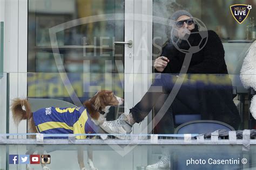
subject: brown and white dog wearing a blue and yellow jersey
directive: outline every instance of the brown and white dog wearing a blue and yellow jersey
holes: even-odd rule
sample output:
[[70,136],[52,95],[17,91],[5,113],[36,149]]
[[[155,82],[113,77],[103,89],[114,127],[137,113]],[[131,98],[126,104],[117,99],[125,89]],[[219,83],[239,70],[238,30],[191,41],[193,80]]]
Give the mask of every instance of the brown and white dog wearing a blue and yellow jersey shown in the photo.
[[[115,96],[112,91],[101,90],[101,91],[98,91],[95,96],[85,101],[83,105],[86,108],[87,113],[90,115],[91,121],[96,125],[100,125],[105,121],[105,117],[109,112],[109,108],[114,105],[122,105],[123,102],[124,102],[124,99],[121,97]],[[45,108],[43,110],[45,110]],[[33,113],[31,112],[30,104],[26,99],[15,98],[11,104],[11,111],[12,111],[12,117],[14,118],[14,122],[16,123],[17,126],[19,122],[21,122],[23,119],[26,119],[28,121],[28,127],[29,127],[28,133],[38,133],[38,127],[36,126],[34,121],[35,115],[33,116]],[[44,115],[45,115],[45,112],[44,112]],[[85,125],[84,125],[84,128],[85,128]],[[35,136],[30,138],[35,138]],[[27,151],[26,154],[33,154],[33,152],[35,152],[34,149]],[[95,168],[92,162],[92,151],[88,150],[87,154],[88,154],[87,163],[89,164],[90,169],[96,170],[97,168]],[[84,160],[83,150],[79,149],[78,163],[79,163],[80,169],[85,170],[86,168],[83,160]],[[43,164],[42,164],[42,167],[43,169],[49,169]],[[30,167],[27,166],[27,169],[30,169]]]

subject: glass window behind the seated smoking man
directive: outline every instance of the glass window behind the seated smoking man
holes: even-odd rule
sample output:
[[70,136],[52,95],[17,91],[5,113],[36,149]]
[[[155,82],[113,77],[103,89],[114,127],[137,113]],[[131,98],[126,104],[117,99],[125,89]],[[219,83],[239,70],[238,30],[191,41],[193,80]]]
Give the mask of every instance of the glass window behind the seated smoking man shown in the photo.
[[[255,40],[256,11],[250,10],[245,21],[239,24],[230,10],[230,6],[235,4],[252,5],[252,9],[256,8],[256,2],[250,0],[154,0],[153,16],[167,19],[175,11],[186,10],[194,18],[200,19],[206,25],[207,30],[213,30],[218,34],[225,50],[225,62],[230,74],[228,76],[232,80],[233,87],[237,89],[240,99],[238,101],[238,98],[234,98],[234,102],[239,108],[241,117],[247,120],[248,114],[245,113],[249,110],[244,100],[247,98],[248,91],[242,86],[239,75],[247,50]],[[169,39],[170,26],[167,26],[167,23],[158,24],[153,21],[153,60],[160,56],[161,48],[159,47],[163,47]],[[172,61],[170,60],[170,62]],[[245,122],[243,122],[243,128],[247,127]]]

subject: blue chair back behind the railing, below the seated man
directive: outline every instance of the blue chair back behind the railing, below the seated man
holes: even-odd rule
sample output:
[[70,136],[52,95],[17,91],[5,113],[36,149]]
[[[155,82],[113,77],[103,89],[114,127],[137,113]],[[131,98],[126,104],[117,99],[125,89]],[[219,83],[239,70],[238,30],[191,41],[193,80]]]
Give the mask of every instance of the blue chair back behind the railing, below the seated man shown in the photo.
[[[202,134],[202,133],[210,133],[215,130],[225,129],[228,131],[234,131],[234,128],[226,123],[219,121],[208,121],[208,120],[200,120],[200,121],[191,121],[178,126],[175,130],[176,134]],[[186,160],[193,158],[194,160],[204,159],[207,160],[209,158],[212,159],[230,159],[230,155],[232,153],[230,150],[221,150],[219,148],[214,149],[217,146],[209,145],[205,146],[204,144],[200,145],[200,147],[195,146],[184,147],[184,149],[179,150],[176,154],[172,155],[172,166],[173,169],[239,169],[240,165],[191,165],[186,166]],[[189,149],[191,148],[191,149]],[[210,150],[209,151],[206,151]],[[178,153],[178,154],[177,154]]]

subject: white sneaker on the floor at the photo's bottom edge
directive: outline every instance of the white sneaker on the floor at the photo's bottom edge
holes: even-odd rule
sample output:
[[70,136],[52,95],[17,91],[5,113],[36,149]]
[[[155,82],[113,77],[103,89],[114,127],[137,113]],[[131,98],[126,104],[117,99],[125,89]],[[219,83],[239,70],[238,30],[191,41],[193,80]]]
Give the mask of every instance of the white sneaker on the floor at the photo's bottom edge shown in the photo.
[[171,159],[170,155],[163,155],[161,159],[156,162],[156,164],[148,165],[146,167],[146,170],[151,170],[151,169],[161,169],[161,170],[170,170],[170,165],[171,164]]

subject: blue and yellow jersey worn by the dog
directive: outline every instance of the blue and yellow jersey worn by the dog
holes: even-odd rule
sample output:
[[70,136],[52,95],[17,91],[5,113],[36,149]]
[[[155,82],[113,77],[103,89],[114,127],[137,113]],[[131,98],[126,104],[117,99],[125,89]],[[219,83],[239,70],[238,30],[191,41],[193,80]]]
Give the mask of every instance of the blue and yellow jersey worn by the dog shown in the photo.
[[[33,112],[38,133],[97,133],[99,128],[90,118],[84,107],[77,108],[43,108]],[[92,136],[88,136],[92,138]],[[46,137],[52,138],[52,137]],[[63,137],[54,137],[63,138]],[[68,138],[68,137],[64,137]],[[76,136],[85,139],[86,136]]]

